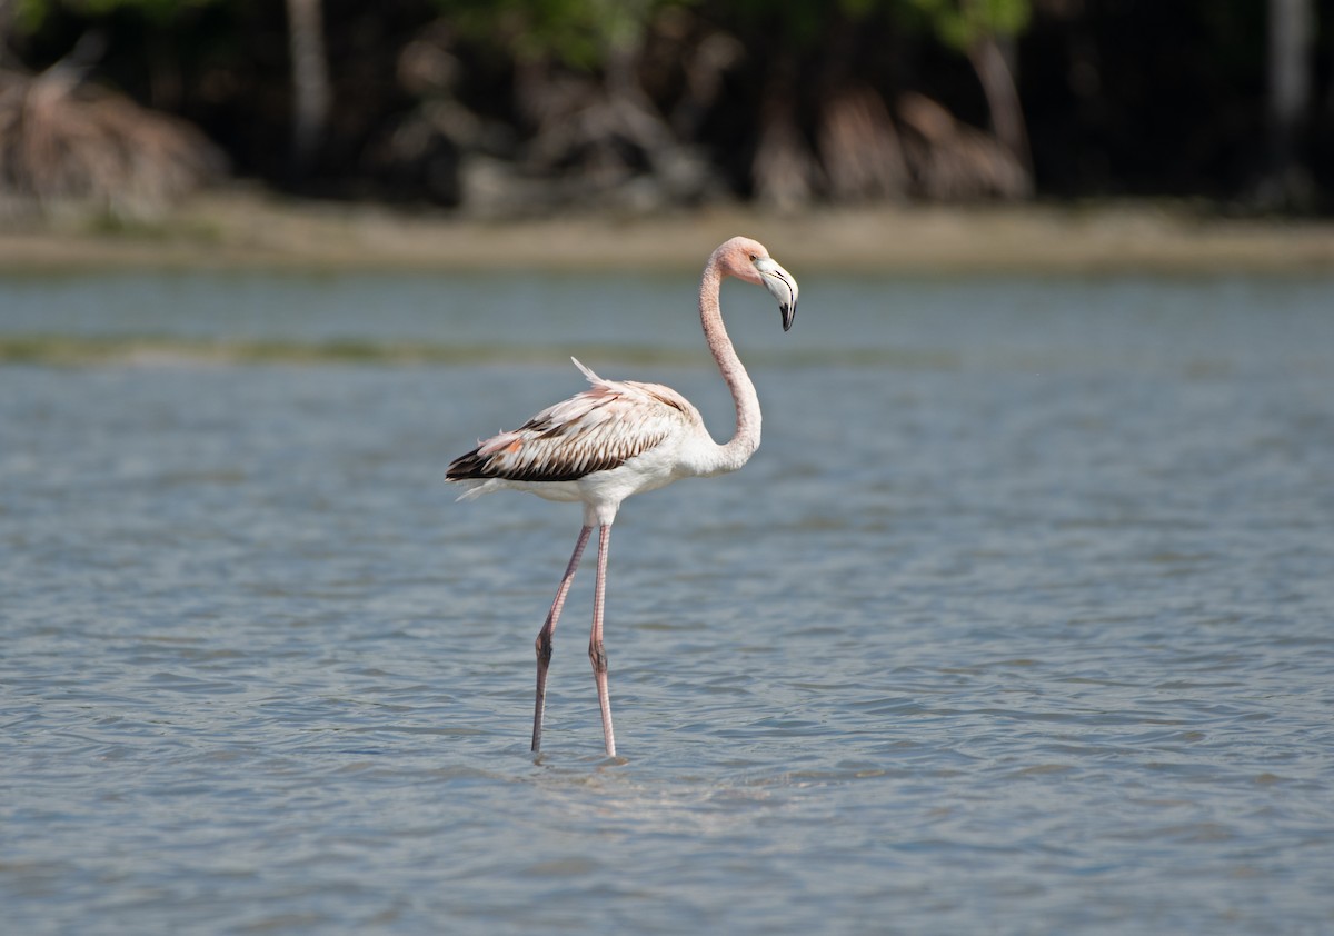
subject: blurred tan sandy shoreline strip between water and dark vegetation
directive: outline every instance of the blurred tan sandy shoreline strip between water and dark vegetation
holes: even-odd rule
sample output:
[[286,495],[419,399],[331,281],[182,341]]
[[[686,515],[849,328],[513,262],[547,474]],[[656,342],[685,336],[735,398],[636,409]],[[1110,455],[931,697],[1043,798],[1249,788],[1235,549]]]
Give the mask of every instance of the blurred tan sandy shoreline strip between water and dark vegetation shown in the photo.
[[[111,271],[682,271],[747,233],[791,267],[854,275],[1334,272],[1334,221],[1210,219],[1174,205],[823,208],[730,205],[656,217],[483,220],[251,191],[197,196],[152,223],[0,227],[0,275]],[[101,225],[107,228],[105,224]]]

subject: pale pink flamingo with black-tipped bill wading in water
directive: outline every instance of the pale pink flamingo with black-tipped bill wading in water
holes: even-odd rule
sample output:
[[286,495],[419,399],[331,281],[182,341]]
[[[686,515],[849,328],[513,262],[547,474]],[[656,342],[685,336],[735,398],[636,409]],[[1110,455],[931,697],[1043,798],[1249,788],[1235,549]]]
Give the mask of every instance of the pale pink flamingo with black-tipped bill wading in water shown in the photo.
[[[532,716],[532,749],[542,748],[542,716],[547,700],[547,665],[551,637],[560,617],[570,583],[584,545],[598,527],[598,580],[594,589],[592,661],[602,707],[602,733],[607,756],[615,756],[611,700],[607,692],[607,653],[602,641],[603,597],[607,581],[607,547],[620,501],[640,491],[671,484],[682,477],[711,477],[736,471],[759,447],[759,397],[736,351],[732,349],[718,292],[724,276],[763,285],[778,300],[783,331],[796,312],[796,280],[779,267],[763,244],[732,237],[722,244],[704,267],[699,284],[699,320],[718,369],[732,391],[736,432],[719,445],[708,435],[699,411],[686,397],[662,384],[635,380],[603,380],[578,360],[575,367],[592,384],[575,396],[543,409],[512,432],[502,432],[455,459],[446,479],[467,488],[459,500],[492,491],[528,491],[547,500],[583,504],[583,529],[560,579],[556,599],[538,632],[538,699]],[[574,360],[574,359],[571,359]]]

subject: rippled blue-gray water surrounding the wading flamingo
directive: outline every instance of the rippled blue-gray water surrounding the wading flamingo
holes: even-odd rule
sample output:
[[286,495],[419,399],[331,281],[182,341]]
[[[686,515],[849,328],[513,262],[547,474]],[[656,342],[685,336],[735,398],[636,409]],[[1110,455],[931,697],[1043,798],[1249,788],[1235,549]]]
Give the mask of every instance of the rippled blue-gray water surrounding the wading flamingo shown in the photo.
[[578,508],[442,476],[564,353],[726,435],[690,277],[0,281],[491,349],[0,365],[5,932],[1334,929],[1334,279],[794,273],[756,457],[616,524],[615,761],[591,567],[527,749]]

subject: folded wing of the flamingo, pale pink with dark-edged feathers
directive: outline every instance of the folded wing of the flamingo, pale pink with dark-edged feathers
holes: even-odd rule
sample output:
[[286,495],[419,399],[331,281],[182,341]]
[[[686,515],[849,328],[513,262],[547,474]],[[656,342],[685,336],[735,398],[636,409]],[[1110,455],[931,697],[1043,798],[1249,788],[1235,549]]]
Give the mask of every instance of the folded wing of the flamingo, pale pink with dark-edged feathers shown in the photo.
[[446,477],[574,481],[619,468],[699,421],[698,411],[670,387],[603,380],[578,360],[575,367],[588,379],[588,389],[480,443],[455,459]]

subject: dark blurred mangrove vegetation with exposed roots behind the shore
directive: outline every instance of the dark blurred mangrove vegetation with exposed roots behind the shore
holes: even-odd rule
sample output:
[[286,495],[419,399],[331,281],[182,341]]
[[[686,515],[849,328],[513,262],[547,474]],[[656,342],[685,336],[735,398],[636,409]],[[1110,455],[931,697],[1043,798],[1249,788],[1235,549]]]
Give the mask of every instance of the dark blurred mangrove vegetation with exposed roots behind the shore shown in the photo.
[[4,204],[227,175],[499,216],[1329,211],[1334,0],[0,0]]

